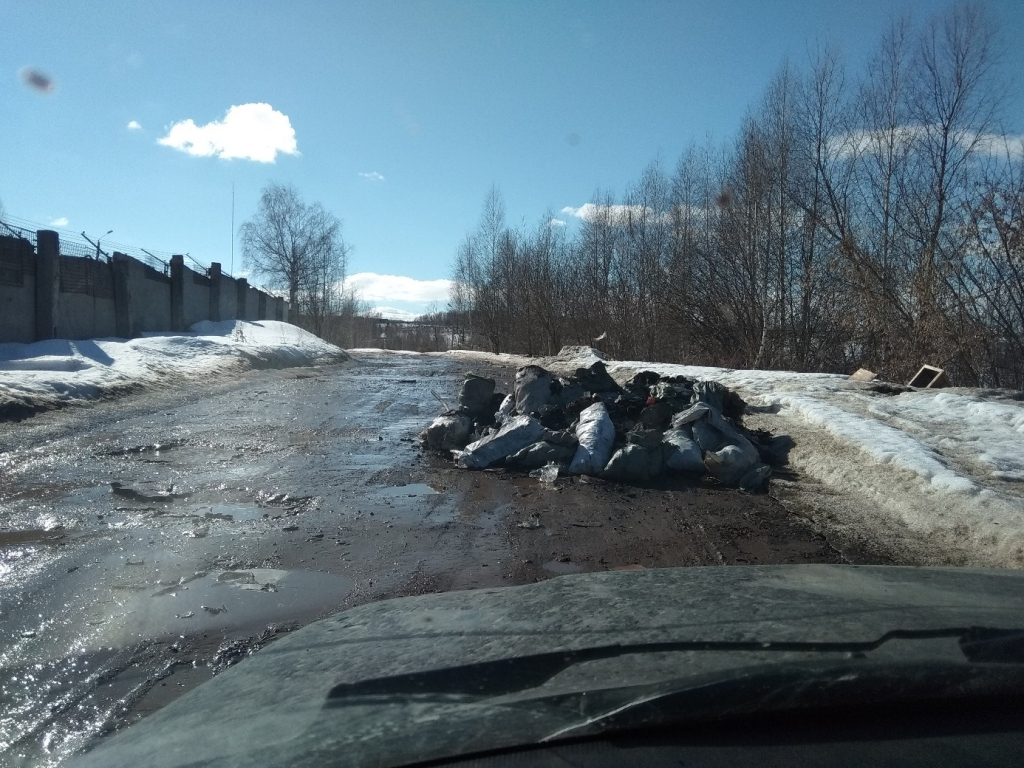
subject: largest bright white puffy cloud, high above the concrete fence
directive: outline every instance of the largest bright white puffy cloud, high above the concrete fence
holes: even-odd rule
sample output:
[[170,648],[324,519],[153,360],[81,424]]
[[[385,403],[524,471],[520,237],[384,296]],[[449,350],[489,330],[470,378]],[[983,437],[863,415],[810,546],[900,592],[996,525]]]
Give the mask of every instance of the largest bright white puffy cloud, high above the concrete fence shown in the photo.
[[183,120],[172,125],[157,143],[199,158],[257,163],[272,163],[278,153],[299,154],[292,121],[265,103],[237,104],[223,120],[206,125]]

